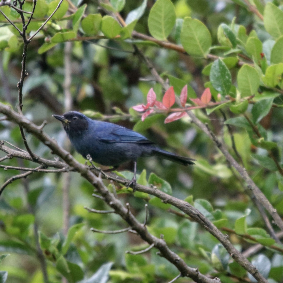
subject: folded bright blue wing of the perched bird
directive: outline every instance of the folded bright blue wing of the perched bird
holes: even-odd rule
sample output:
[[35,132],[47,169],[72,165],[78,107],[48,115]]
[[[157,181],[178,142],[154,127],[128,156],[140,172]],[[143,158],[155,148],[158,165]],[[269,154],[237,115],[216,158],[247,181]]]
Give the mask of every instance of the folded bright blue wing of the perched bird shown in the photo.
[[106,136],[101,136],[99,140],[105,143],[143,143],[153,144],[152,141],[148,140],[141,134],[129,130],[127,128],[115,125]]

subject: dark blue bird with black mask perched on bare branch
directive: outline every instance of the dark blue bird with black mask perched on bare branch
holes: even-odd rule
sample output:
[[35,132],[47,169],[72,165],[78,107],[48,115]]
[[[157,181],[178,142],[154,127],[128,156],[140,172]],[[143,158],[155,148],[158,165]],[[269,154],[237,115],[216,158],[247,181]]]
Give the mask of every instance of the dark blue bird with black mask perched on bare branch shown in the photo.
[[76,111],[53,117],[62,122],[72,145],[84,158],[90,156],[101,165],[113,166],[112,170],[121,163],[134,161],[134,177],[128,185],[133,189],[136,186],[138,157],[155,155],[183,165],[194,164],[194,159],[160,149],[141,134],[125,127],[92,120]]

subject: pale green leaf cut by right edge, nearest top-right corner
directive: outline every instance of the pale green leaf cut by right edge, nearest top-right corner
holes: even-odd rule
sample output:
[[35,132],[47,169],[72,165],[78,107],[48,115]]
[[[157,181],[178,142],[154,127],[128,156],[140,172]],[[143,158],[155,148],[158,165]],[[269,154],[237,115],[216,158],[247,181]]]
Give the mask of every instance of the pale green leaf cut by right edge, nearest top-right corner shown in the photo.
[[273,3],[268,2],[263,12],[263,24],[266,31],[274,38],[283,35],[283,11]]

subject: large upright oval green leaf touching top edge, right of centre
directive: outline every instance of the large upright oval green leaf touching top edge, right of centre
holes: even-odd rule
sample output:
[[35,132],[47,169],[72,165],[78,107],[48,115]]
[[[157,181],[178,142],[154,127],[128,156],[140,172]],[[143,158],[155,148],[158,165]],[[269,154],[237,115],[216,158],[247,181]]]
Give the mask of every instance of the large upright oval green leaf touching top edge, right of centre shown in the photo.
[[176,22],[175,7],[170,0],[157,0],[148,16],[148,28],[153,37],[166,40]]

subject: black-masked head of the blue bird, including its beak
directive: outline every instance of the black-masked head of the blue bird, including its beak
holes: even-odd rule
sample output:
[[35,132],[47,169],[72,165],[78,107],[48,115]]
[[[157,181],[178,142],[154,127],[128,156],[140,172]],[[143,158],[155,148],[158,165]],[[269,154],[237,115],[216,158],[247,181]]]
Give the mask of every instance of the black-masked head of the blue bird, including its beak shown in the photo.
[[88,118],[80,112],[70,111],[61,115],[52,115],[62,122],[68,135],[77,135],[88,128]]

